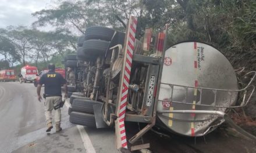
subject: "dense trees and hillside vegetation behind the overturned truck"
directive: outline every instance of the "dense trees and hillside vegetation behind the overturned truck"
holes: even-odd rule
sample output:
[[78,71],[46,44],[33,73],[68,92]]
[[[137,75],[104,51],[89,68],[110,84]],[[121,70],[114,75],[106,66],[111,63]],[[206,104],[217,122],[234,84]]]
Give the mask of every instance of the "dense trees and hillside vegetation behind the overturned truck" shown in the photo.
[[[87,27],[101,25],[124,31],[130,14],[139,17],[138,37],[145,27],[157,33],[170,24],[168,46],[196,40],[210,43],[234,63],[254,68],[256,2],[252,0],[85,0],[56,1],[52,8],[34,12],[29,28],[0,29],[1,68],[13,63],[46,64],[53,56],[76,50],[77,36]],[[52,31],[38,27],[51,25]],[[243,61],[242,63],[240,61]]]

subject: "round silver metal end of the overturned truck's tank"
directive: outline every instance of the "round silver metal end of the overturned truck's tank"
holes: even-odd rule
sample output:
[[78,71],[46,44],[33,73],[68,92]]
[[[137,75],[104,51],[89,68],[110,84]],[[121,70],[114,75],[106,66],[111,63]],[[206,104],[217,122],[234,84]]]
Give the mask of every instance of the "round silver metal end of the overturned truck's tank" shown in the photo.
[[[177,43],[165,52],[157,111],[226,112],[237,100],[237,92],[230,90],[237,89],[234,69],[221,52],[206,43]],[[158,113],[157,118],[159,126],[184,136],[204,136],[223,122],[215,115],[193,113]]]

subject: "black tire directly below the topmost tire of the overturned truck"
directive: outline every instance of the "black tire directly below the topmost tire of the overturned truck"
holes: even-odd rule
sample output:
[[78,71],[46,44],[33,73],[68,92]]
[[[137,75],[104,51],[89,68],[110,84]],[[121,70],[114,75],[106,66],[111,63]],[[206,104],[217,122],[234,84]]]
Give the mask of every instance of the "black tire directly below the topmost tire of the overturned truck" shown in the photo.
[[85,54],[90,55],[105,55],[106,51],[109,49],[109,43],[107,41],[91,39],[85,41],[83,44],[83,51]]

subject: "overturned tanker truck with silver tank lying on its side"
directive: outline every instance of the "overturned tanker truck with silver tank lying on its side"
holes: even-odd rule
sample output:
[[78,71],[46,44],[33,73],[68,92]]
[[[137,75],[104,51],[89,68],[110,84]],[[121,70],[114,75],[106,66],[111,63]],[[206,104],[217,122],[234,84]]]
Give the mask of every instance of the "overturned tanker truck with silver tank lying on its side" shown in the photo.
[[87,28],[79,38],[77,54],[66,57],[66,67],[75,76],[73,87],[69,86],[73,92],[70,122],[115,127],[117,148],[127,148],[125,122],[146,125],[129,139],[130,145],[153,126],[198,137],[225,121],[255,140],[226,115],[250,101],[254,71],[244,75],[250,82],[239,89],[236,72],[217,49],[192,41],[165,49],[165,27],[155,39],[155,51],[148,52],[150,29],[141,43],[136,39],[136,25],[137,18],[131,16],[126,33]]

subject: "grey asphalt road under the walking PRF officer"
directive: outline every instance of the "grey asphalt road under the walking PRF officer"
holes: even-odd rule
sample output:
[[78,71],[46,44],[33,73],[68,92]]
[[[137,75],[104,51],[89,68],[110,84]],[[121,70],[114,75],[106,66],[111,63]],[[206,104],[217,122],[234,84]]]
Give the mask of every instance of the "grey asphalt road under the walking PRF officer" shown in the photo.
[[[42,89],[43,91],[43,89]],[[62,129],[45,132],[44,103],[33,83],[0,82],[0,152],[117,152],[113,129],[90,129],[69,122],[62,108]],[[86,145],[87,144],[87,145]],[[89,145],[88,145],[89,144]]]

